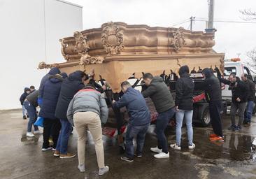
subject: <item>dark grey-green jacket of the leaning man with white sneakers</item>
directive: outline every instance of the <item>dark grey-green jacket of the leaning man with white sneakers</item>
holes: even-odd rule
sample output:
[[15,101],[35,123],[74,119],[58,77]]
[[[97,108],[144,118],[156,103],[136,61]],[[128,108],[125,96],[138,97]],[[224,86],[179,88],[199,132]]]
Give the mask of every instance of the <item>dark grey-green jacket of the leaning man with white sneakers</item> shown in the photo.
[[159,76],[155,76],[152,79],[151,84],[142,92],[142,95],[144,98],[150,96],[155,104],[157,113],[163,113],[175,106],[169,88]]

